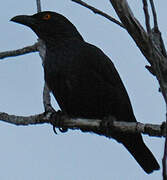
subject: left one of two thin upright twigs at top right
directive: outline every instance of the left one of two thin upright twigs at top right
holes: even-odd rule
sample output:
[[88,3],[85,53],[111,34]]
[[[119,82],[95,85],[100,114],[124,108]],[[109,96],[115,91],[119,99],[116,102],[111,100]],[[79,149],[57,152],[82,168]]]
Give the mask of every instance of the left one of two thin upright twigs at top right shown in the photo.
[[151,33],[151,26],[150,26],[150,16],[149,16],[149,12],[148,12],[147,0],[143,0],[143,10],[144,10],[144,15],[145,15],[147,33],[150,34]]

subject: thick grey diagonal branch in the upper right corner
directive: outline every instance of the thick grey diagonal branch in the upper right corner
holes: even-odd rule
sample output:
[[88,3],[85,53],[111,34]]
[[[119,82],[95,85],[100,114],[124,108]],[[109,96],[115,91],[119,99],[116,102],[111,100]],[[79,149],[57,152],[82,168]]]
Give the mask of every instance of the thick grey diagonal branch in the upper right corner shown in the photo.
[[[156,68],[155,62],[158,62],[157,64],[160,64],[159,68],[164,78],[163,82],[165,82],[164,87],[167,87],[167,77],[165,76],[167,72],[167,59],[162,54],[162,50],[159,49],[159,45],[156,44],[156,41],[152,41],[152,33],[149,36],[145,32],[141,24],[134,17],[126,0],[110,0],[110,2],[117,12],[120,20],[125,25],[129,34],[134,39],[143,55],[147,58],[148,62],[152,65],[152,68]],[[154,71],[156,70],[154,69]],[[158,78],[158,80],[160,79]],[[167,91],[165,90],[165,92]],[[163,96],[167,103],[166,95],[163,94]]]

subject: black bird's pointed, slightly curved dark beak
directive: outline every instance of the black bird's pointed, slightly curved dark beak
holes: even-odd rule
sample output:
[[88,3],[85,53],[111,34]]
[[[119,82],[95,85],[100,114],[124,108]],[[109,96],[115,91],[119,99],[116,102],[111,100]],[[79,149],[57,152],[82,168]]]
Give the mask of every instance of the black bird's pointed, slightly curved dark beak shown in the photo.
[[27,16],[27,15],[15,16],[11,19],[11,21],[26,25],[29,27],[32,27],[36,24],[35,19],[32,16]]

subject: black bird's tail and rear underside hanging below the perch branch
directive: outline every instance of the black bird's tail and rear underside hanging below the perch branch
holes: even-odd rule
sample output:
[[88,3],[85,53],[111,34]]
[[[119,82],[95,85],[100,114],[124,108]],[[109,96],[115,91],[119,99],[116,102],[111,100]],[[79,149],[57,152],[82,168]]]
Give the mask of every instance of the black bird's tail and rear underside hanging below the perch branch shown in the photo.
[[122,143],[146,173],[150,174],[154,170],[159,170],[159,164],[152,152],[145,145],[141,134],[126,134],[114,131],[106,134],[106,132],[99,130],[93,130],[93,132],[109,138],[112,137]]

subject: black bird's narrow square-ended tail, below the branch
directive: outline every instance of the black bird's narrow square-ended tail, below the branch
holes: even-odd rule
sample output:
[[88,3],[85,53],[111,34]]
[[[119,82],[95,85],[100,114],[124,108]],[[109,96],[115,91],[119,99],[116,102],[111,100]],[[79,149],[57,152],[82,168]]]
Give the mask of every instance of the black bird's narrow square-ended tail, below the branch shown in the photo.
[[127,136],[128,137],[126,137],[126,135],[124,136],[121,143],[132,154],[143,170],[148,174],[154,170],[158,170],[160,168],[159,164],[152,152],[144,144],[141,135],[128,134]]

